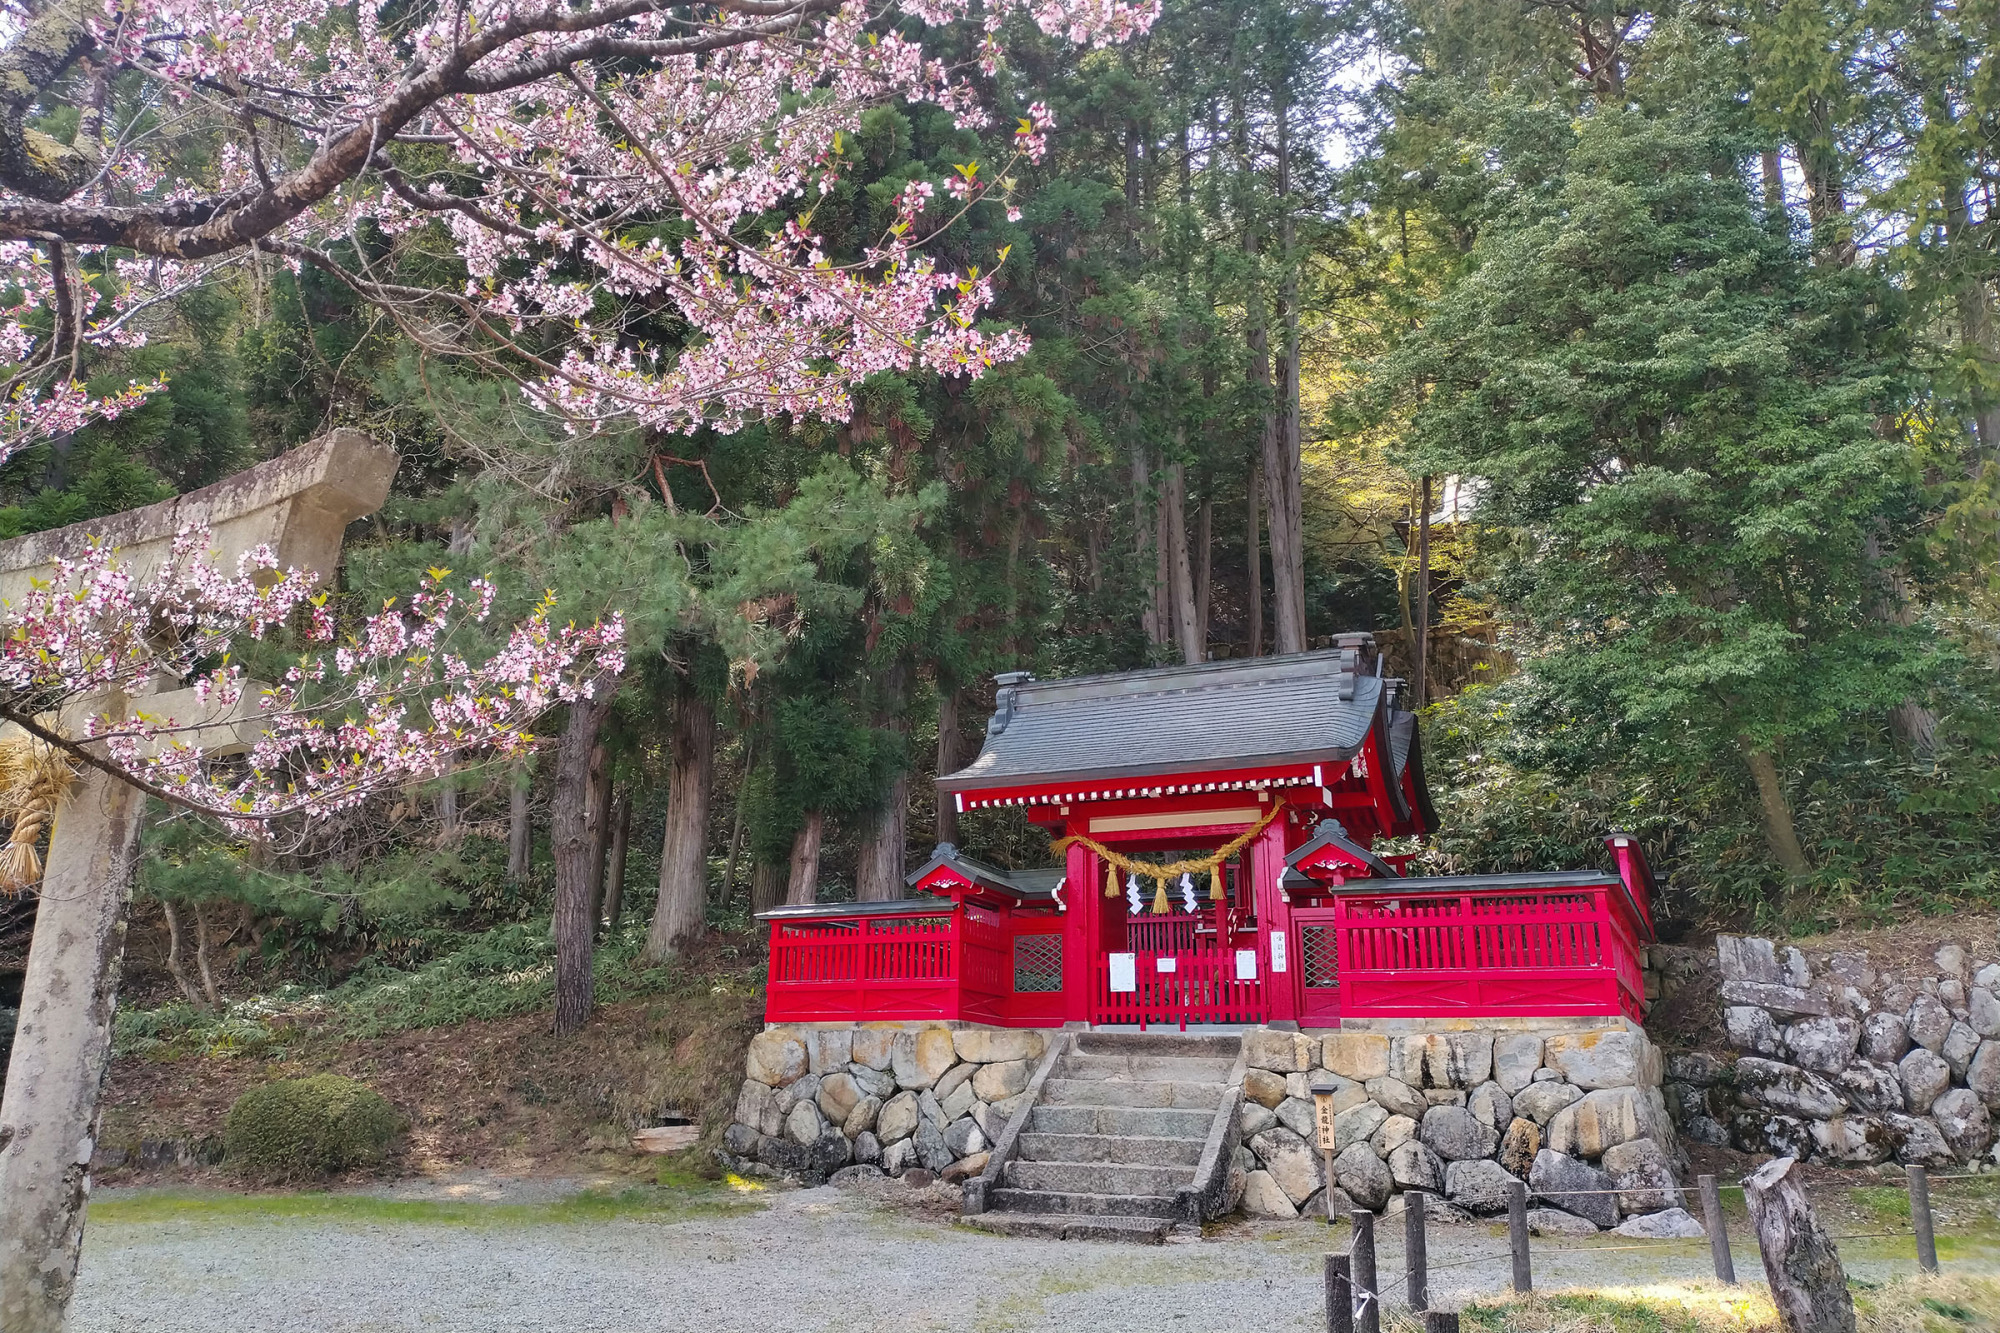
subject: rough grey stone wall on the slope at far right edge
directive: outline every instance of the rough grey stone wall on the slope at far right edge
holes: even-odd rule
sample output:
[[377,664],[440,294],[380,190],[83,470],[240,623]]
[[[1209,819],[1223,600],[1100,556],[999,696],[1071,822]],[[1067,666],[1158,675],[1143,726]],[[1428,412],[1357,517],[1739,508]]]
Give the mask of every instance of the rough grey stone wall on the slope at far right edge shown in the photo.
[[1734,1059],[1668,1059],[1684,1135],[1826,1165],[2000,1161],[2000,963],[1944,945],[1878,969],[1732,935],[1716,963]]

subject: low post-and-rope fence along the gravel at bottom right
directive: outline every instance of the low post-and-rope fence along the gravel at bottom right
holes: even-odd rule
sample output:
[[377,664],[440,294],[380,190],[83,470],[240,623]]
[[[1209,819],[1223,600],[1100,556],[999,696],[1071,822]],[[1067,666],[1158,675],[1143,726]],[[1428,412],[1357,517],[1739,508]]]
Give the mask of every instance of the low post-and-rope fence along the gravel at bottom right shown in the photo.
[[[1890,1229],[1890,1231],[1848,1231],[1840,1235],[1826,1235],[1826,1241],[1888,1241],[1888,1239],[1914,1239],[1916,1241],[1916,1263],[1924,1273],[1938,1271],[1938,1235],[1952,1235],[1962,1231],[1972,1231],[1976,1223],[1960,1223],[1956,1227],[1938,1229],[1930,1213],[1930,1185],[1952,1185],[1960,1181],[1994,1181],[1992,1175],[1980,1173],[1956,1173],[1930,1177],[1924,1167],[1908,1167],[1908,1193],[1910,1193],[1910,1229]],[[1730,1251],[1728,1219],[1722,1213],[1720,1195],[1724,1189],[1742,1191],[1742,1185],[1722,1185],[1712,1175],[1700,1177],[1696,1185],[1662,1185],[1662,1187],[1642,1187],[1642,1189],[1556,1189],[1556,1191],[1536,1191],[1536,1199],[1544,1203],[1558,1205],[1572,1197],[1592,1197],[1592,1195],[1632,1195],[1632,1193],[1672,1193],[1672,1195],[1696,1195],[1704,1213],[1706,1237],[1658,1237],[1658,1239],[1638,1239],[1628,1245],[1560,1245],[1560,1253],[1580,1253],[1580,1255],[1610,1255],[1622,1251],[1660,1251],[1674,1249],[1708,1241],[1714,1259],[1716,1279],[1722,1283],[1736,1283],[1734,1255]],[[1448,1263],[1430,1263],[1426,1231],[1424,1231],[1424,1193],[1406,1191],[1404,1193],[1404,1273],[1390,1281],[1376,1281],[1376,1253],[1374,1253],[1374,1215],[1366,1211],[1356,1211],[1354,1237],[1346,1255],[1326,1255],[1326,1327],[1330,1333],[1380,1333],[1380,1307],[1382,1301],[1396,1293],[1398,1289],[1408,1293],[1408,1303],[1412,1311],[1428,1311],[1428,1289],[1432,1273],[1446,1273],[1450,1269],[1464,1269],[1484,1263],[1510,1261],[1514,1265],[1514,1291],[1532,1291],[1532,1259],[1528,1245],[1528,1187],[1514,1183],[1508,1199],[1508,1249],[1492,1255],[1472,1255],[1470,1259],[1452,1259]],[[1328,1217],[1332,1221],[1332,1217]],[[1578,1237],[1582,1239],[1582,1237]],[[1434,1311],[1430,1311],[1434,1313]],[[1456,1319],[1454,1319],[1456,1325]],[[1426,1329],[1428,1313],[1426,1313]]]

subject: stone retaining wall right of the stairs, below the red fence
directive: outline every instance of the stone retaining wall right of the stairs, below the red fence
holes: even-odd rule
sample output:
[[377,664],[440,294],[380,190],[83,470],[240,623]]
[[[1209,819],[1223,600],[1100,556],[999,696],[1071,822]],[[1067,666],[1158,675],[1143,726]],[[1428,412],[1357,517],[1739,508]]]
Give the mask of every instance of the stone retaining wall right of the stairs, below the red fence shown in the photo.
[[[1594,1021],[1604,1023],[1604,1021]],[[1402,1029],[1466,1027],[1452,1021]],[[1324,1215],[1312,1083],[1334,1083],[1334,1211],[1504,1213],[1516,1181],[1538,1231],[1686,1235],[1660,1053],[1634,1025],[1520,1031],[1258,1029],[1244,1037],[1238,1167],[1252,1217]],[[1618,1191],[1618,1193],[1566,1193]],[[1698,1231],[1692,1231],[1698,1235]]]

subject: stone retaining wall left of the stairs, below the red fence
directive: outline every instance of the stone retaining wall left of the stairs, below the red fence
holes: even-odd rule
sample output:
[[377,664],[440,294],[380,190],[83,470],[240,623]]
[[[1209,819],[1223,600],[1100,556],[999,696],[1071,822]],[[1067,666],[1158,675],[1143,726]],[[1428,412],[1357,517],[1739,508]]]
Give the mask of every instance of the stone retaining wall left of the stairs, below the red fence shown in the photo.
[[960,1025],[796,1025],[750,1039],[736,1123],[744,1175],[824,1183],[836,1171],[978,1175],[1048,1039]]

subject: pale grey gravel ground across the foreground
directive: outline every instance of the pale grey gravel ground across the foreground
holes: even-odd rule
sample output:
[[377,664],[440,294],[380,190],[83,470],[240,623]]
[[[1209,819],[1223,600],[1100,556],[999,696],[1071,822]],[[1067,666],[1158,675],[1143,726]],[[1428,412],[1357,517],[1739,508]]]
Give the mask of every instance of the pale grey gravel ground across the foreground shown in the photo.
[[[580,1183],[460,1177],[378,1191],[392,1199],[546,1203]],[[886,1187],[886,1183],[884,1183]],[[138,1199],[104,1191],[106,1199]],[[1234,1223],[1200,1241],[1122,1247],[990,1237],[854,1191],[752,1195],[750,1207],[604,1221],[464,1225],[216,1215],[92,1221],[76,1333],[848,1333],[1086,1329],[1278,1333],[1322,1329],[1320,1255],[1346,1227]],[[1380,1271],[1400,1303],[1400,1221],[1378,1225]],[[1622,1237],[1534,1243],[1536,1287],[1638,1287],[1710,1273],[1706,1241]],[[1618,1249],[1612,1249],[1618,1247]],[[1910,1243],[1842,1247],[1854,1277],[1914,1269]],[[2000,1271],[2000,1251],[1956,1263]],[[1506,1229],[1434,1227],[1430,1291],[1442,1307],[1506,1287]],[[1754,1249],[1736,1245],[1744,1277]]]

